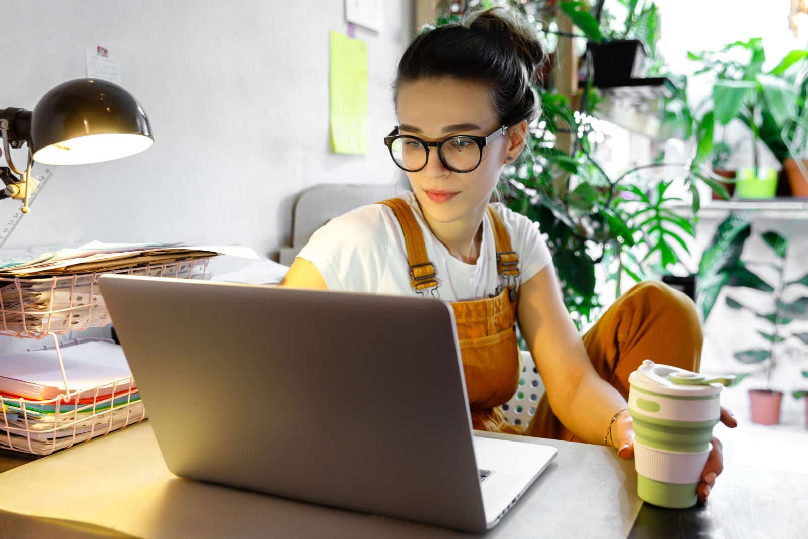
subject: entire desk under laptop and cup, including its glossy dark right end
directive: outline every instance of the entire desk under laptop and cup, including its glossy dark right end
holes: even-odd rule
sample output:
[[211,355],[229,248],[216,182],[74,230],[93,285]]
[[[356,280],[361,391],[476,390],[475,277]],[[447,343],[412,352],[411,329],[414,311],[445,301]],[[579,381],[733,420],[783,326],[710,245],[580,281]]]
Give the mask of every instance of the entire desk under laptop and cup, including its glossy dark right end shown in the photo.
[[[808,537],[808,474],[727,466],[705,505],[641,508],[633,461],[600,446],[520,440],[558,456],[486,537]],[[148,421],[30,460],[0,454],[0,471],[29,461],[0,474],[0,539],[469,537],[177,478]]]

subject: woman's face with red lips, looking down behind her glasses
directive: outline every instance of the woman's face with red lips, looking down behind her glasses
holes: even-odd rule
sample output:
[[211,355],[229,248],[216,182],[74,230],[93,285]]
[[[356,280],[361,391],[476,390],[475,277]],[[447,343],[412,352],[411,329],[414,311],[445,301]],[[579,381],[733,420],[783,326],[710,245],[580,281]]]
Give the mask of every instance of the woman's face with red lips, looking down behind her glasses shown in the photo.
[[[402,135],[443,141],[454,135],[486,137],[499,124],[486,86],[452,78],[420,79],[398,88],[398,121]],[[469,216],[490,200],[499,181],[509,146],[497,137],[482,149],[479,166],[466,173],[449,170],[437,148],[429,149],[427,166],[407,172],[424,213],[435,221],[452,222]],[[444,147],[444,151],[449,151]]]

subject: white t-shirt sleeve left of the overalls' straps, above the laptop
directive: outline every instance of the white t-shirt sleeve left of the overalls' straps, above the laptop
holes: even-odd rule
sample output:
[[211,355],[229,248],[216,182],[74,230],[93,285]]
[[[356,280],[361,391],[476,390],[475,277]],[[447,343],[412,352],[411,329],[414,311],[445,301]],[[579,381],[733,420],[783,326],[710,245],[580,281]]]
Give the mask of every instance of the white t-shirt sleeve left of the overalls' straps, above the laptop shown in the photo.
[[389,238],[379,204],[328,221],[297,255],[317,267],[329,290],[376,293],[387,263]]

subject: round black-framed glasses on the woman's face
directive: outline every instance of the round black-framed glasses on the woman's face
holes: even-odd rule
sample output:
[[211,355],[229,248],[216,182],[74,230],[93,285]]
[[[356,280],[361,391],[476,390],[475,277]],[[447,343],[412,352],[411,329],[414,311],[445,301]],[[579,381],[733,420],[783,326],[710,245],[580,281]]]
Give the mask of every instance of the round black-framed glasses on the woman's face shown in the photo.
[[427,166],[429,149],[438,149],[438,158],[446,168],[454,172],[471,172],[482,162],[482,149],[497,137],[505,135],[506,127],[497,128],[487,137],[457,135],[440,142],[422,141],[419,137],[399,135],[398,125],[385,137],[393,162],[403,171],[418,172]]

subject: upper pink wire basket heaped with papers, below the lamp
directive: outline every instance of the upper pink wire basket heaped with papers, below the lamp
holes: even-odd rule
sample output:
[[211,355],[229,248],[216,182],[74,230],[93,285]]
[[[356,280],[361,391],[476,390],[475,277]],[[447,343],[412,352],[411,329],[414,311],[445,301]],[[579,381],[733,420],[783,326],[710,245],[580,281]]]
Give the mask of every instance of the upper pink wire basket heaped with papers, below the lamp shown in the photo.
[[105,274],[204,279],[212,257],[51,277],[0,277],[0,335],[44,339],[110,323],[98,287]]

